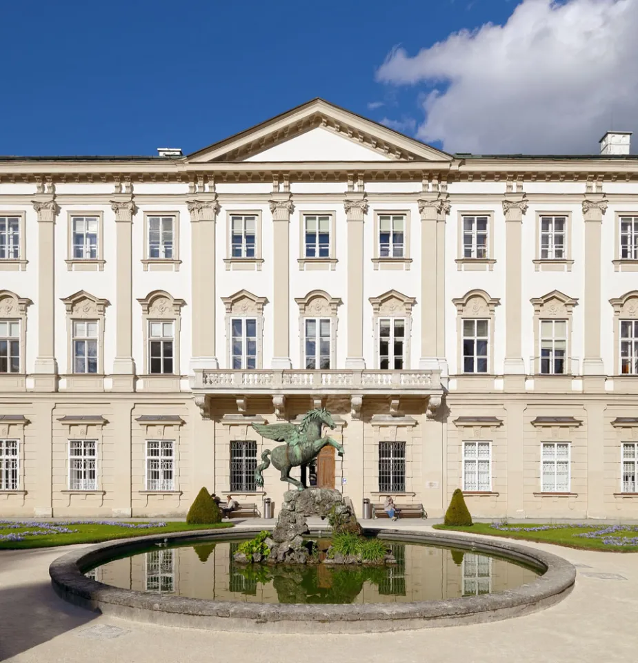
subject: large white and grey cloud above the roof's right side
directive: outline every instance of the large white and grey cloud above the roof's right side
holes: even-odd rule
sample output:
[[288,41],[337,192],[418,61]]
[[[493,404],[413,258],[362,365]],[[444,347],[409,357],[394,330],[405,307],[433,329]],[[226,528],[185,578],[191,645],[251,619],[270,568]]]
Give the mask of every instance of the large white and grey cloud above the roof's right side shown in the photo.
[[417,136],[474,153],[596,153],[638,129],[638,0],[524,0],[504,26],[462,30],[377,80],[428,84]]

